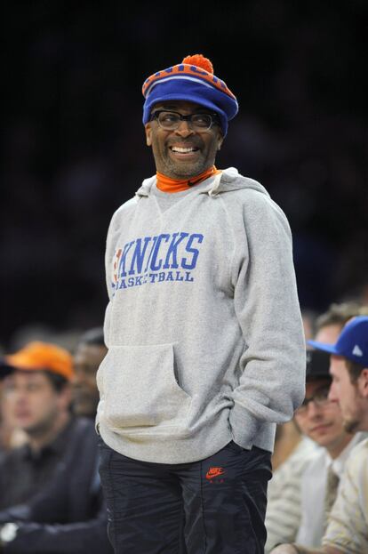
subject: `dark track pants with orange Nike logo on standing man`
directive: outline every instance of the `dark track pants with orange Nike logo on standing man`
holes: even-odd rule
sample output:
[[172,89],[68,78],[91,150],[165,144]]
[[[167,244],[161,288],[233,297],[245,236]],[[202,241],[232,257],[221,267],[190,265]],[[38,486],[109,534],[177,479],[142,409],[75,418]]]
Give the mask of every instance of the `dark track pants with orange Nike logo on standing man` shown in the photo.
[[263,554],[271,454],[230,442],[200,462],[139,462],[100,440],[116,554]]

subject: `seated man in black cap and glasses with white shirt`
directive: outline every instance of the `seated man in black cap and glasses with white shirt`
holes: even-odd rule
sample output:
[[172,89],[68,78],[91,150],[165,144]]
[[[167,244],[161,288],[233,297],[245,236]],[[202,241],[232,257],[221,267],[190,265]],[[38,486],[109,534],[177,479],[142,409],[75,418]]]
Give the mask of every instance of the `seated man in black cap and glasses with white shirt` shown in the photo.
[[323,448],[301,478],[301,521],[296,541],[318,547],[348,455],[366,434],[352,435],[344,430],[340,406],[328,398],[332,381],[328,355],[309,350],[308,356],[312,363],[307,375],[306,399],[296,411],[295,420],[300,430]]

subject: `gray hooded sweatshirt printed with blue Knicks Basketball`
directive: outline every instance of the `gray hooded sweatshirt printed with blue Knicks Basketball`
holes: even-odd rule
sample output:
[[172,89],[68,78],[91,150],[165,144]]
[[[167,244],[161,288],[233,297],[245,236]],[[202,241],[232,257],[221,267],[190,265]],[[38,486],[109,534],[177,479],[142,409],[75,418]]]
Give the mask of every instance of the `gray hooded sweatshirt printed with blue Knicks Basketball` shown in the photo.
[[284,213],[235,168],[165,209],[155,189],[143,181],[108,229],[100,435],[146,462],[198,461],[230,440],[272,451],[306,365]]

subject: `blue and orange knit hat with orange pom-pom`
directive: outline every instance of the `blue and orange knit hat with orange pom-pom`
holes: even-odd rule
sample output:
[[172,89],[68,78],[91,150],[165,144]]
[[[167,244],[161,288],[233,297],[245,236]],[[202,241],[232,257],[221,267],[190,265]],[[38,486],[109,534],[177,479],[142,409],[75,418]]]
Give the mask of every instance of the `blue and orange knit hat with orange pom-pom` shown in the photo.
[[224,136],[228,121],[236,116],[236,96],[224,81],[213,75],[212,62],[202,54],[187,56],[171,68],[157,71],[143,83],[143,124],[148,123],[151,109],[157,102],[188,100],[211,109],[220,116]]

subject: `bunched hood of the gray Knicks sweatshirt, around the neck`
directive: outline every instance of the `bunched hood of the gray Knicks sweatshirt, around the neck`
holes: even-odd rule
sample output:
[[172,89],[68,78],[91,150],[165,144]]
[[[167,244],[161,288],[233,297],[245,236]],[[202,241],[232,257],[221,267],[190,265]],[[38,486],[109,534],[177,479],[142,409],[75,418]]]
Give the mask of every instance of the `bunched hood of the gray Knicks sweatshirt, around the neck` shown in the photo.
[[[145,179],[140,189],[137,190],[136,197],[149,197],[152,187],[156,184],[156,175]],[[217,175],[212,175],[205,181],[194,187],[198,194],[208,194],[209,197],[216,197],[220,194],[239,189],[257,190],[261,194],[269,197],[268,191],[258,182],[248,177],[243,177],[238,173],[236,167],[228,167]]]

